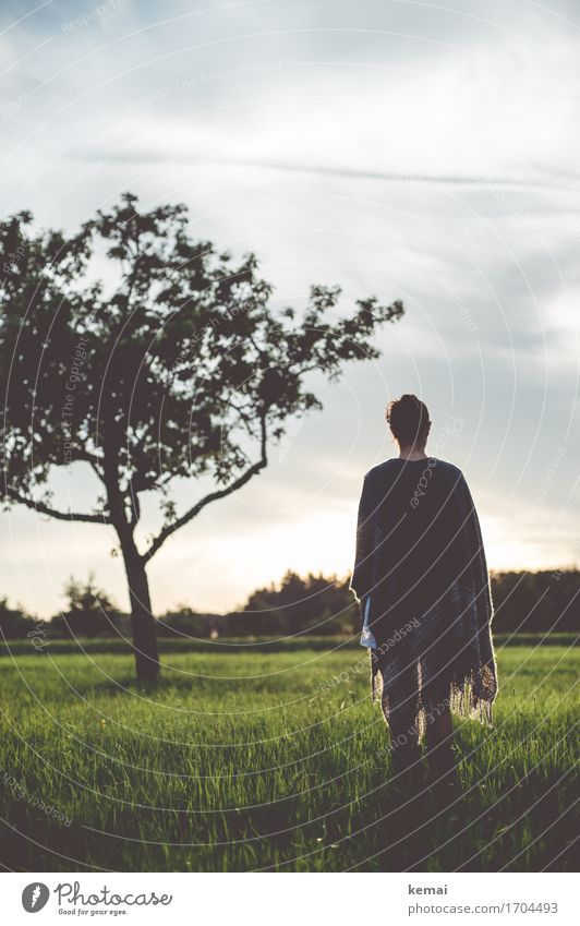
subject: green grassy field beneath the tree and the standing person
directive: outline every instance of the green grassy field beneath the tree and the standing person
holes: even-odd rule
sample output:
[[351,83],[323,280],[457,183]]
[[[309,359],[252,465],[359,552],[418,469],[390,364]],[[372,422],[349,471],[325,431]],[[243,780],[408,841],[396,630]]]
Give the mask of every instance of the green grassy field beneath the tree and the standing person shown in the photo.
[[21,641],[0,658],[1,863],[572,870],[580,651],[525,642],[499,647],[494,729],[456,724],[462,794],[442,810],[428,790],[399,806],[360,648],[167,647],[148,690],[98,642]]

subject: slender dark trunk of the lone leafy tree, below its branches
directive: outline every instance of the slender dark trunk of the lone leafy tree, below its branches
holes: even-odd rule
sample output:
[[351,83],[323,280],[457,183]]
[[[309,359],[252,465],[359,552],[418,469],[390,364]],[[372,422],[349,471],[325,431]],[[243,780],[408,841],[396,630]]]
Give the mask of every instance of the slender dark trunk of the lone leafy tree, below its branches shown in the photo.
[[154,682],[159,674],[159,654],[147,573],[133,543],[123,544],[123,560],[131,598],[131,629],[137,678],[140,682]]

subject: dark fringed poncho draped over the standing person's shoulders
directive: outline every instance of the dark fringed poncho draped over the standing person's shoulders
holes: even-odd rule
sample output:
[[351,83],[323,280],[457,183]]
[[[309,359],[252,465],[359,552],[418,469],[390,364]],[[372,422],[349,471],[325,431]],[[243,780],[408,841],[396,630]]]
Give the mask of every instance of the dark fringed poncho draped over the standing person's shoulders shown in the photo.
[[442,698],[456,713],[492,723],[493,603],[461,470],[428,457],[386,460],[366,474],[351,589],[363,608],[370,596],[373,696],[380,674],[387,721],[411,673],[420,735],[428,705]]

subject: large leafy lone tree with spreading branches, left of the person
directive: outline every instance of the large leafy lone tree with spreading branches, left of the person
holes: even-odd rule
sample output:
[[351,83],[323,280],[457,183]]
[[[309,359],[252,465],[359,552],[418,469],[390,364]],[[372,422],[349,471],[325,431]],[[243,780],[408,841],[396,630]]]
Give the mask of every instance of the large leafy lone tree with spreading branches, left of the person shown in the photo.
[[[306,374],[336,380],[378,357],[368,339],[402,304],[359,300],[333,321],[338,287],[313,286],[300,318],[270,305],[253,254],[234,262],[194,240],[183,205],[118,205],[67,236],[21,212],[0,223],[2,498],[43,515],[110,525],[131,599],[137,677],[159,672],[146,567],[206,505],[267,465],[290,419],[321,402]],[[102,279],[100,278],[102,277]],[[53,467],[84,464],[100,480],[92,512],[53,505]],[[174,480],[213,491],[178,514]],[[162,526],[140,549],[142,493]]]

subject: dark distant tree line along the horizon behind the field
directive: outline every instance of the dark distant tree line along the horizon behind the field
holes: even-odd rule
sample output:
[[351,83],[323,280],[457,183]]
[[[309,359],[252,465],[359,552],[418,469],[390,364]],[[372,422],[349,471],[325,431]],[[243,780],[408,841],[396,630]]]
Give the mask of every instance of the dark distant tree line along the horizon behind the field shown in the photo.
[[[93,575],[85,582],[71,578],[64,594],[67,608],[46,622],[0,599],[0,635],[32,636],[41,623],[53,638],[130,636],[130,615],[97,587]],[[496,634],[580,630],[578,569],[495,573],[492,594]],[[288,572],[279,584],[256,589],[230,614],[202,614],[179,605],[157,618],[157,633],[172,638],[352,636],[359,622],[349,577]]]

